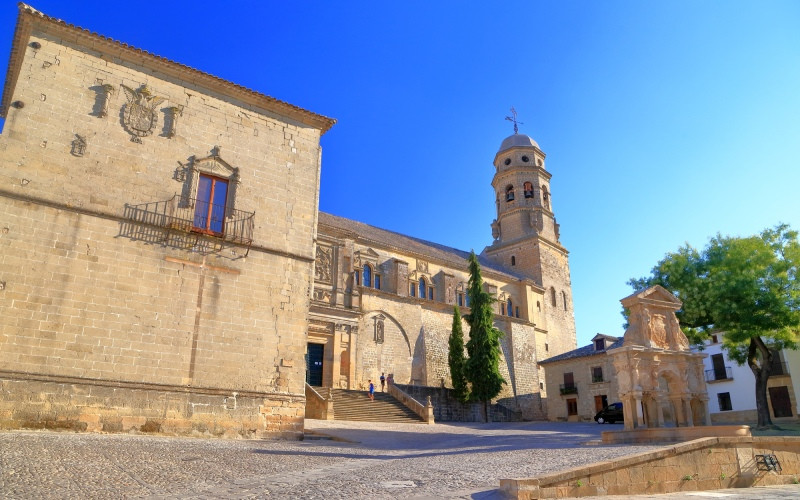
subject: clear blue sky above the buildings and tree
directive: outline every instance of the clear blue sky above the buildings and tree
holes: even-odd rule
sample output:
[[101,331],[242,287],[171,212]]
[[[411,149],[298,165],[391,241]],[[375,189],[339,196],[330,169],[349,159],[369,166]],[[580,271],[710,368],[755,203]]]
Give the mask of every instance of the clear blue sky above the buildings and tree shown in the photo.
[[553,174],[579,345],[621,335],[625,282],[683,243],[800,229],[800,2],[32,5],[336,118],[320,209],[460,249],[491,243],[514,106]]

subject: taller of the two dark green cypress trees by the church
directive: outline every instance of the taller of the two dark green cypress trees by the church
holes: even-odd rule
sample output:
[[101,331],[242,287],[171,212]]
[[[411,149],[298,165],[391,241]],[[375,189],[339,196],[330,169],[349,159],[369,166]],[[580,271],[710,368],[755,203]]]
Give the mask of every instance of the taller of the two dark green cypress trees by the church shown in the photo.
[[470,313],[464,318],[469,323],[467,362],[464,375],[471,386],[471,399],[483,402],[484,421],[489,421],[489,402],[500,394],[506,382],[500,375],[500,336],[494,327],[492,303],[495,301],[483,289],[481,266],[475,252],[469,255],[469,282],[467,294]]

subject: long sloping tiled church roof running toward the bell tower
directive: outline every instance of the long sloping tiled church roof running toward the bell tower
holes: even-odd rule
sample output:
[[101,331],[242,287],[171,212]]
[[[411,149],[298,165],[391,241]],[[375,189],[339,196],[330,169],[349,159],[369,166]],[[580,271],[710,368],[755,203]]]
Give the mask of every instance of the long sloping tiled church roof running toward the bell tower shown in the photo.
[[[354,240],[360,240],[366,245],[375,245],[378,247],[386,247],[394,249],[400,253],[409,253],[411,255],[419,256],[425,260],[441,262],[447,264],[455,269],[467,268],[467,258],[469,252],[458,250],[439,243],[414,238],[405,234],[396,233],[379,227],[370,226],[363,222],[354,221],[332,215],[325,212],[319,213],[319,225],[321,226],[320,232],[325,233],[322,226],[344,231],[349,233],[349,236]],[[492,271],[495,274],[500,274],[509,280],[524,280],[530,279],[526,276],[518,274],[506,267],[503,267],[483,255],[478,255],[478,262],[481,269]]]

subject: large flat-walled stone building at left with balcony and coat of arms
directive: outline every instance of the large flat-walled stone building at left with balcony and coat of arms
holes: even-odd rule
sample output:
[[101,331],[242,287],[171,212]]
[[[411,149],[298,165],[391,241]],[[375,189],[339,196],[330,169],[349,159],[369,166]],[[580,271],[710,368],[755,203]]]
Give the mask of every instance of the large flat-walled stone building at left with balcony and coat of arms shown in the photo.
[[333,120],[25,5],[2,114],[0,427],[299,436]]

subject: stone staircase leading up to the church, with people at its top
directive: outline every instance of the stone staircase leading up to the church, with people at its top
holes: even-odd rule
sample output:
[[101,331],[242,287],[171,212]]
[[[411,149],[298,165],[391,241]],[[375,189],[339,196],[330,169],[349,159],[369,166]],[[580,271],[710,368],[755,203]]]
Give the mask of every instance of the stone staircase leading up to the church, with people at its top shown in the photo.
[[376,392],[375,401],[367,391],[333,390],[334,420],[361,422],[422,423],[422,418],[386,392]]

